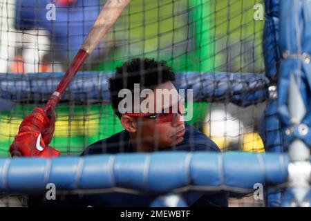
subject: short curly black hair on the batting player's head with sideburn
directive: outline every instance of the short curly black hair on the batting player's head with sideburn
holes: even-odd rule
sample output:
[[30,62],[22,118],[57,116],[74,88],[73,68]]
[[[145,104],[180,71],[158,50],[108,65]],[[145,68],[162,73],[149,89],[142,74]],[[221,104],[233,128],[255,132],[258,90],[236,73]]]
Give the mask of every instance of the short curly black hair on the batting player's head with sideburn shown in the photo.
[[109,90],[113,111],[120,118],[118,105],[123,97],[118,97],[122,89],[134,89],[134,84],[140,84],[140,90],[149,88],[154,90],[159,84],[175,81],[175,73],[165,61],[155,59],[135,58],[126,61],[122,66],[115,68],[115,76],[109,79]]

